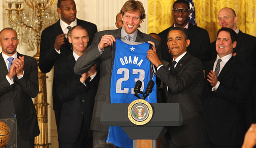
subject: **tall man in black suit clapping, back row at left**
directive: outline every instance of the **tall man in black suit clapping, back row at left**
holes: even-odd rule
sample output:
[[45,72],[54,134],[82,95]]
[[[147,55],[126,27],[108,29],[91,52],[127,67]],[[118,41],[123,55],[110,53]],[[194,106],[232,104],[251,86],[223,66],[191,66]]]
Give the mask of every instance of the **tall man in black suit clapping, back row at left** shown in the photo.
[[[57,11],[61,16],[60,20],[44,29],[41,37],[39,68],[44,73],[49,72],[56,61],[72,53],[70,44],[66,39],[67,32],[71,27],[81,25],[88,30],[88,46],[90,46],[94,34],[97,32],[95,24],[76,18],[76,4],[74,0],[58,0],[57,7]],[[53,110],[55,111],[58,128],[62,103],[56,95],[55,77],[53,78],[52,96]]]

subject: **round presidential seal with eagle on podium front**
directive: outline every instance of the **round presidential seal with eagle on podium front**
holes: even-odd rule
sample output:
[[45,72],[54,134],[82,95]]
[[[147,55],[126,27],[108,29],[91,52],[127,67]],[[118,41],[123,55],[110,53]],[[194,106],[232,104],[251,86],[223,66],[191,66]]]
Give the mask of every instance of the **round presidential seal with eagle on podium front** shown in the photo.
[[128,106],[128,118],[135,125],[148,123],[152,116],[152,106],[144,99],[134,100]]

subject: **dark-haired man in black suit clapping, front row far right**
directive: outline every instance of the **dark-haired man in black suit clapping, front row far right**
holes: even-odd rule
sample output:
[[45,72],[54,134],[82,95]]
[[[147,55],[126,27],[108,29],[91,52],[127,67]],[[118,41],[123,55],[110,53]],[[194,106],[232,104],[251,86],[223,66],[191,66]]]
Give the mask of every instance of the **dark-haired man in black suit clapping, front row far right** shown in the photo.
[[233,57],[237,34],[218,31],[217,58],[204,63],[203,106],[213,148],[241,148],[245,134],[243,102],[250,97],[251,68]]

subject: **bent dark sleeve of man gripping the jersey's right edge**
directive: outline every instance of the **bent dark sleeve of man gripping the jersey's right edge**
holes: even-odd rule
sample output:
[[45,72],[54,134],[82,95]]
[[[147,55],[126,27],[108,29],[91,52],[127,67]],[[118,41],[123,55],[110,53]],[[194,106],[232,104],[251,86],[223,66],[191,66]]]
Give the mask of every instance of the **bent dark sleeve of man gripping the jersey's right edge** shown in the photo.
[[179,76],[172,74],[167,67],[162,66],[157,70],[156,76],[171,89],[173,93],[182,92],[187,89],[194,81],[203,76],[203,68],[200,60],[184,65]]

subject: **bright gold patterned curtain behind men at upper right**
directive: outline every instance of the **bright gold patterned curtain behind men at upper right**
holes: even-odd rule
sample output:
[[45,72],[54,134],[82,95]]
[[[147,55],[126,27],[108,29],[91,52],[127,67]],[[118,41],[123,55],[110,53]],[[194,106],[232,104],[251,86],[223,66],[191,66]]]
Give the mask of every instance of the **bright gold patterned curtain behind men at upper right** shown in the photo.
[[[148,33],[160,33],[173,23],[172,5],[176,0],[148,0]],[[220,29],[218,13],[223,7],[235,10],[237,27],[244,33],[256,36],[256,0],[193,0],[197,26],[208,31],[211,42]]]

